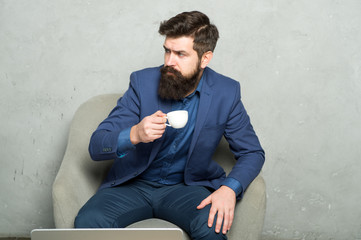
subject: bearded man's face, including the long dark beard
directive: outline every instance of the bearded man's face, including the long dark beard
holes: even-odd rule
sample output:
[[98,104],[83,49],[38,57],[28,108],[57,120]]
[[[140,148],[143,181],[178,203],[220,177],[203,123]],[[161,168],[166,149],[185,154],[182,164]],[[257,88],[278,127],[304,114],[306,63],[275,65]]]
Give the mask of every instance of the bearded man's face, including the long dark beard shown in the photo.
[[195,90],[202,73],[193,38],[166,38],[163,47],[164,66],[158,94],[163,99],[180,100]]

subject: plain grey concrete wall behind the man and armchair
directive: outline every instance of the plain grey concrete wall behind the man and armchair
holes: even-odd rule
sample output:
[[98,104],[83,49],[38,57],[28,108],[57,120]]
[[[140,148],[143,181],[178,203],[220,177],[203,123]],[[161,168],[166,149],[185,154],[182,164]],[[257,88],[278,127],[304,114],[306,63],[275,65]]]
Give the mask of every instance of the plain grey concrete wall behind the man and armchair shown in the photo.
[[51,228],[76,108],[162,63],[161,20],[198,9],[267,152],[269,239],[361,239],[361,1],[0,0],[0,237]]

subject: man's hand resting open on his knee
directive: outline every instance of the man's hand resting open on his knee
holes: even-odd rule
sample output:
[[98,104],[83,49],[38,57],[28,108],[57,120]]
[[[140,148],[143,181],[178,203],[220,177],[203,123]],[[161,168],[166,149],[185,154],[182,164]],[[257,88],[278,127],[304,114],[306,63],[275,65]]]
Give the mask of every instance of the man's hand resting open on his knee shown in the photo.
[[217,215],[217,222],[215,231],[219,233],[223,222],[223,234],[231,229],[234,208],[236,206],[236,193],[227,186],[221,186],[217,191],[213,192],[206,199],[204,199],[198,206],[197,209],[202,209],[208,204],[211,204],[211,210],[209,211],[208,227],[213,226],[215,215]]

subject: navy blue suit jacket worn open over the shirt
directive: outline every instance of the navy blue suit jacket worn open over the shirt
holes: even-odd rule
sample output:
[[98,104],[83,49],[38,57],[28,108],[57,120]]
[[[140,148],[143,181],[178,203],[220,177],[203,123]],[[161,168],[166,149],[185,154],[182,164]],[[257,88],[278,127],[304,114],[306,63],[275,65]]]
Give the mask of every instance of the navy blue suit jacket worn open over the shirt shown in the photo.
[[[117,106],[93,133],[89,152],[94,160],[115,159],[101,188],[122,184],[142,173],[156,157],[163,137],[152,143],[139,143],[124,157],[117,155],[120,131],[139,123],[157,110],[171,110],[169,101],[159,98],[160,67],[133,72],[129,89]],[[236,158],[229,174],[243,190],[258,175],[264,163],[264,152],[241,102],[237,81],[204,70],[204,82],[196,125],[184,171],[184,182],[218,189],[226,178],[224,170],[212,155],[224,135]]]

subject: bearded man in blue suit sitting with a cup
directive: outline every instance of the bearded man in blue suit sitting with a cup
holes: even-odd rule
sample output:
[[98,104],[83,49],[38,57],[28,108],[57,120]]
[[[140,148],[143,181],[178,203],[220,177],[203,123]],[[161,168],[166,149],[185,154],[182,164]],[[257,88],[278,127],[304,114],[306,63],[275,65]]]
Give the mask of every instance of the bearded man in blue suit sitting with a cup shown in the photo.
[[[164,65],[131,74],[117,106],[93,133],[96,161],[115,159],[78,228],[126,227],[160,218],[192,239],[227,239],[236,200],[260,172],[264,151],[240,100],[240,86],[207,65],[218,30],[197,11],[160,24]],[[166,114],[188,111],[185,127]],[[212,160],[224,136],[237,160],[228,176]]]

